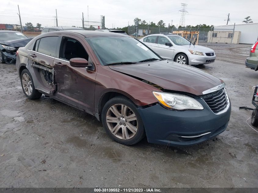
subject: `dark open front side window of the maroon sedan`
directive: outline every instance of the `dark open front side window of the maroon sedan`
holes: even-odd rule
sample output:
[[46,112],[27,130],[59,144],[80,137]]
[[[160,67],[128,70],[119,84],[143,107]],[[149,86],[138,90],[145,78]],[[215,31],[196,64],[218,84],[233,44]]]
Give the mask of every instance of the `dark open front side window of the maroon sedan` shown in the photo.
[[79,41],[73,38],[63,37],[59,58],[66,60],[70,60],[71,58],[84,58],[89,60],[89,55]]

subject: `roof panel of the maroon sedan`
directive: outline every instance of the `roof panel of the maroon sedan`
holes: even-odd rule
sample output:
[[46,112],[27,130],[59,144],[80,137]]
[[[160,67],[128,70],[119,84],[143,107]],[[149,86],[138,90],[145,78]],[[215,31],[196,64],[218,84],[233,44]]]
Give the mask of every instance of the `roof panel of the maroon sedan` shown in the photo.
[[95,37],[95,36],[124,36],[128,37],[127,35],[121,34],[121,33],[113,33],[113,32],[106,32],[103,33],[102,31],[97,31],[97,30],[62,30],[62,31],[54,31],[54,32],[49,32],[48,34],[60,34],[60,33],[65,33],[65,32],[71,32],[71,33],[76,33],[76,34],[81,34],[85,37]]

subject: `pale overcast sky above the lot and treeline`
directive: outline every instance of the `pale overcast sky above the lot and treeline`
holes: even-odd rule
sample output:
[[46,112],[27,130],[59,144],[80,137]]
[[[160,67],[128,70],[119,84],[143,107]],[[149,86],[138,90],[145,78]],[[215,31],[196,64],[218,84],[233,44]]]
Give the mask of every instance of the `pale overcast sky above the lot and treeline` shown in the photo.
[[[82,27],[82,12],[84,20],[100,22],[100,15],[105,16],[105,27],[125,27],[133,25],[133,19],[138,17],[147,22],[158,23],[163,20],[168,26],[179,25],[181,3],[186,3],[188,14],[185,25],[223,25],[226,24],[227,14],[230,13],[229,24],[242,23],[246,16],[251,16],[254,23],[258,23],[257,0],[12,0],[1,1],[0,23],[19,24],[17,15],[19,4],[22,25],[31,22],[34,26],[41,23],[42,27],[55,26],[55,14],[59,26]],[[88,22],[85,22],[87,25]],[[100,25],[89,23],[89,25]]]

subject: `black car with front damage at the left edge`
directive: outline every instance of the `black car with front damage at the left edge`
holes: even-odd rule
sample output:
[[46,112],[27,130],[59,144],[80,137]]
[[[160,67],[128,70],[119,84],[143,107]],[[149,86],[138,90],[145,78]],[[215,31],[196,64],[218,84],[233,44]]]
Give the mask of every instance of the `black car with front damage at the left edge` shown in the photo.
[[0,63],[15,64],[18,48],[32,39],[19,31],[0,30]]

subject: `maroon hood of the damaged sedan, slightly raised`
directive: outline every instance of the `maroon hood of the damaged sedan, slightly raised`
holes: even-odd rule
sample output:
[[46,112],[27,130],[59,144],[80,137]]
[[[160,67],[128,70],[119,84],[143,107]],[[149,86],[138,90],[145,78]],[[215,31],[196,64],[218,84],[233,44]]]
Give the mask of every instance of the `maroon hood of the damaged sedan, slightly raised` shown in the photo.
[[195,67],[170,61],[109,66],[110,69],[152,82],[164,89],[203,95],[222,80]]

